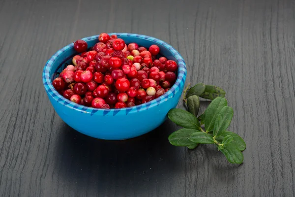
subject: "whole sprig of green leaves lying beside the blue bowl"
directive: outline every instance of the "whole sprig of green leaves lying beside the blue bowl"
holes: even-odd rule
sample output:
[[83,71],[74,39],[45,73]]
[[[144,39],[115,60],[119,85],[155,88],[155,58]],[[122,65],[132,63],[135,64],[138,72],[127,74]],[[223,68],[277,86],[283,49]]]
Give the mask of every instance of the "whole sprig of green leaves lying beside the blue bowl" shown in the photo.
[[[234,111],[228,106],[225,91],[217,86],[198,83],[184,90],[183,100],[188,111],[171,109],[168,118],[183,127],[169,136],[169,142],[175,146],[196,148],[199,144],[215,144],[232,164],[243,163],[241,151],[245,150],[244,140],[236,133],[227,131]],[[211,99],[205,112],[198,118],[200,99]]]

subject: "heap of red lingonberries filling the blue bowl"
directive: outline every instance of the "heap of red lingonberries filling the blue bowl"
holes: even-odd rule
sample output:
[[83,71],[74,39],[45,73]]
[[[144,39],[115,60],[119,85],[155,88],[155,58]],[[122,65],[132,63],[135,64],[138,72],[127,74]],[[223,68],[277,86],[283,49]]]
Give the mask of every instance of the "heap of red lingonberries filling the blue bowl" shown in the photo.
[[156,99],[176,81],[177,63],[159,56],[160,48],[125,44],[117,35],[101,33],[88,50],[83,40],[74,42],[81,53],[53,80],[54,88],[72,102],[94,108],[132,107]]

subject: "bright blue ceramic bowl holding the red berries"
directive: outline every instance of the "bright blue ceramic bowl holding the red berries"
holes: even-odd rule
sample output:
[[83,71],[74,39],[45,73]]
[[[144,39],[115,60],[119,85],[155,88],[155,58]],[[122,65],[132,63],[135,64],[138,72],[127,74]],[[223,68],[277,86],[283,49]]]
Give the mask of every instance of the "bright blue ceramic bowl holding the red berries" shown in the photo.
[[[180,54],[169,44],[157,38],[131,33],[110,33],[118,35],[126,44],[136,42],[149,47],[156,44],[160,54],[177,62],[177,81],[161,97],[150,102],[123,109],[95,109],[71,102],[62,97],[53,87],[52,81],[65,63],[72,64],[77,55],[73,43],[63,47],[50,60],[43,70],[43,84],[50,102],[59,117],[73,129],[91,137],[109,140],[121,140],[145,134],[159,127],[166,119],[170,109],[177,106],[186,78],[186,66]],[[98,35],[83,38],[88,46],[98,42]]]

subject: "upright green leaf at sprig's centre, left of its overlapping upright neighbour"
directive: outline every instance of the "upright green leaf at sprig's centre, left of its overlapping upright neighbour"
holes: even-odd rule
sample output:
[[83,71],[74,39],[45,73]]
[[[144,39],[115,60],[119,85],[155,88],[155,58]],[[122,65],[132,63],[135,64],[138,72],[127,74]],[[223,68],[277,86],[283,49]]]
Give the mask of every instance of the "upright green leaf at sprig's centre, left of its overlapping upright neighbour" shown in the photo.
[[227,100],[221,97],[217,97],[212,100],[205,111],[205,129],[206,131],[212,131],[214,129],[215,119],[221,109],[227,106]]

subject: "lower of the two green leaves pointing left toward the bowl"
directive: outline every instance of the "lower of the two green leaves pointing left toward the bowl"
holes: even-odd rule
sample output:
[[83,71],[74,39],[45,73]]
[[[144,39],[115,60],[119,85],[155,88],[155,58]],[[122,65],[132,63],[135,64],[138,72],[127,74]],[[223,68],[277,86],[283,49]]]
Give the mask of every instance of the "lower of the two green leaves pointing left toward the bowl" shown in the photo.
[[169,139],[169,142],[174,146],[190,146],[196,143],[188,139],[191,136],[191,134],[195,132],[201,132],[201,131],[192,130],[192,129],[180,129],[178,131],[171,133],[168,139]]

